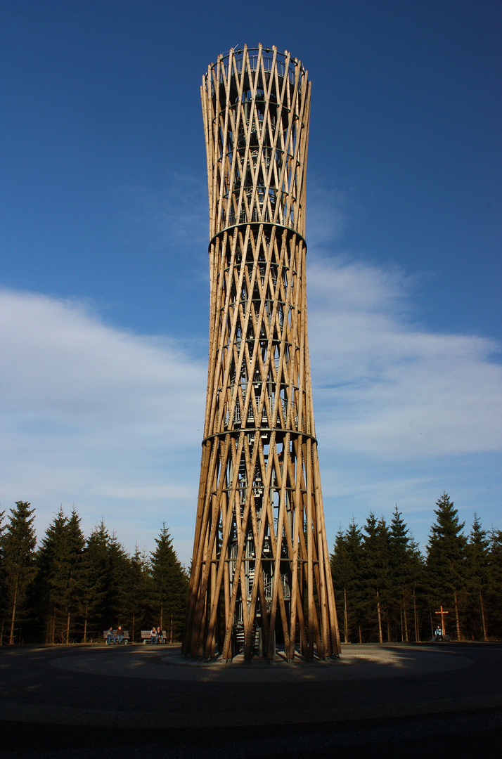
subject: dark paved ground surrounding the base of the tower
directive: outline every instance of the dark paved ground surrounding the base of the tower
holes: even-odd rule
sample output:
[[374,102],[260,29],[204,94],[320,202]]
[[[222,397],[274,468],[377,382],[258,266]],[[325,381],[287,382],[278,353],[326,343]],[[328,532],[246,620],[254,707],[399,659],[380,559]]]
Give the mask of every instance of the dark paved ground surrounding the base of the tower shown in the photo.
[[0,648],[0,757],[502,757],[502,644],[344,646],[330,663],[176,647]]

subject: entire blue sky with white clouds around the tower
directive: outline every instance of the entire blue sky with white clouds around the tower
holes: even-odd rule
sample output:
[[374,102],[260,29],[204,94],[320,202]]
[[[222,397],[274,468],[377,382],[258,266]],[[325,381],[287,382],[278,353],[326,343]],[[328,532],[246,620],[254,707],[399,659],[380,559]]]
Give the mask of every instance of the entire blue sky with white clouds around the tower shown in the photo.
[[[231,8],[231,9],[230,9]],[[0,493],[166,521],[188,562],[207,373],[200,77],[313,82],[308,301],[328,541],[446,490],[502,528],[497,2],[0,0]],[[327,328],[326,328],[327,325]]]

